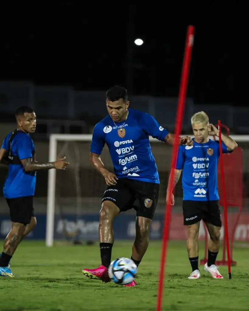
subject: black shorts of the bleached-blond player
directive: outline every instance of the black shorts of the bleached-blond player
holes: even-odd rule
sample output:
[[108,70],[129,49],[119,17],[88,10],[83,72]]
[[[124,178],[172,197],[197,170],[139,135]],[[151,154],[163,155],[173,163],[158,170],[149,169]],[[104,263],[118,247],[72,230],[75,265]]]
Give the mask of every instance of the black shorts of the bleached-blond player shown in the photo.
[[184,225],[193,225],[200,220],[211,225],[221,227],[221,213],[219,201],[191,201],[183,200],[182,204]]

